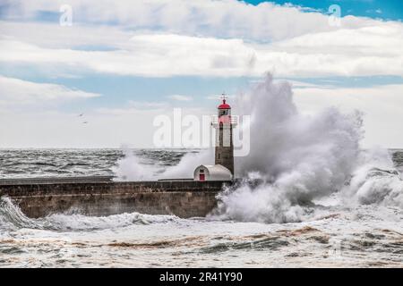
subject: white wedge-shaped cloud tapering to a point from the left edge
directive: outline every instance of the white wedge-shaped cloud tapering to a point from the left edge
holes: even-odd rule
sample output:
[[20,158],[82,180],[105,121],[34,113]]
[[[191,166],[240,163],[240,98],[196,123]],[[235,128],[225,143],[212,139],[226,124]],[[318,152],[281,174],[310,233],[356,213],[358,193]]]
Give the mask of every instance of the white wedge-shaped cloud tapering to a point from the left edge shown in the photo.
[[56,84],[0,76],[0,105],[37,105],[91,97],[100,95]]

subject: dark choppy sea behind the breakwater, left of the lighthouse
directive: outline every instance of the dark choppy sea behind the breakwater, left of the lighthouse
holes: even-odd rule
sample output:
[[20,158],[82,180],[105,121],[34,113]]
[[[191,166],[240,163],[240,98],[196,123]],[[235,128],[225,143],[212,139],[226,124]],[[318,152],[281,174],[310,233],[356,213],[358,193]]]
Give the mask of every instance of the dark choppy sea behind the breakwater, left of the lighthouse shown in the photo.
[[[177,164],[197,150],[133,149],[141,164],[161,168]],[[0,179],[113,176],[122,149],[0,149]]]

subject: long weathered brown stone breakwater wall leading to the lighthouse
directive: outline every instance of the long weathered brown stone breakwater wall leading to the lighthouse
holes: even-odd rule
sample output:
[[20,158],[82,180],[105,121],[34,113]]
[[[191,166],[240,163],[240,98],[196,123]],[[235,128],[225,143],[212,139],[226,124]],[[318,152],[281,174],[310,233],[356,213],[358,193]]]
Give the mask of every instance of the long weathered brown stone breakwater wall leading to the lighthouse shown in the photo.
[[111,181],[111,177],[0,180],[7,196],[29,217],[55,213],[205,216],[229,181]]

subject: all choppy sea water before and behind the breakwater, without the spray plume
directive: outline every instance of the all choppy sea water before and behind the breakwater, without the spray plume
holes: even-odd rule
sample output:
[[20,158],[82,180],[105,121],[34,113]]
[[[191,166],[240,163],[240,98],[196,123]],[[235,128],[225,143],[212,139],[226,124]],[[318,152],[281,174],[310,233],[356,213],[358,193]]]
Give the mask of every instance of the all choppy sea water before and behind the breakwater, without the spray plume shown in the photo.
[[[188,153],[133,152],[161,169]],[[402,172],[403,151],[390,153]],[[0,179],[113,175],[123,156],[117,149],[0,150]],[[402,267],[402,208],[341,201],[332,193],[306,207],[300,221],[257,223],[213,214],[30,219],[0,198],[0,267]]]

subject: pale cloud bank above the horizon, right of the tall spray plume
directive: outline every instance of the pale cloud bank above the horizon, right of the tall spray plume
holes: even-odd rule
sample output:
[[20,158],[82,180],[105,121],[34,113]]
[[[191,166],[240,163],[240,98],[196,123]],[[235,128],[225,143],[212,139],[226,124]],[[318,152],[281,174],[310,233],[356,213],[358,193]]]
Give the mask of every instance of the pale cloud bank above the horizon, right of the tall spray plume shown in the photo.
[[402,147],[403,85],[371,88],[329,88],[308,86],[293,88],[296,105],[305,114],[316,114],[328,106],[344,112],[359,110],[364,114],[365,147]]

